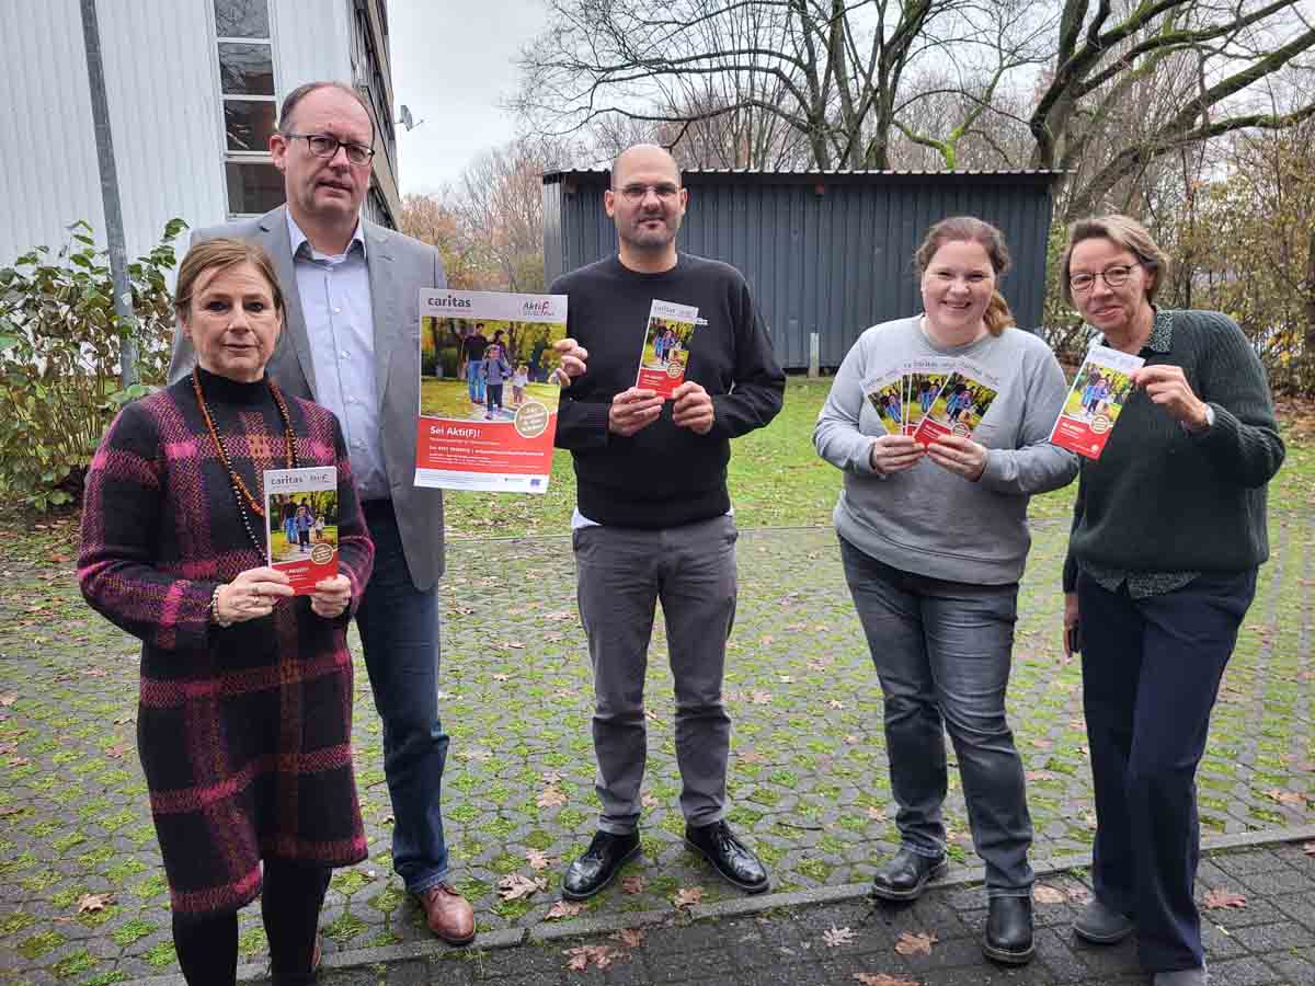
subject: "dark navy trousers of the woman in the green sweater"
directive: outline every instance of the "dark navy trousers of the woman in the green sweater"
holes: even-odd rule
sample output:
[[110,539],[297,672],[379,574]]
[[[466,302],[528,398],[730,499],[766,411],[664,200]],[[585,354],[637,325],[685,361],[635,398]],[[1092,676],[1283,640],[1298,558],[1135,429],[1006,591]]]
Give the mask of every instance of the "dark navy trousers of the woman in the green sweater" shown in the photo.
[[1193,899],[1201,858],[1197,765],[1255,594],[1255,568],[1202,575],[1144,599],[1078,573],[1097,819],[1091,883],[1101,903],[1136,922],[1147,972],[1205,961]]

